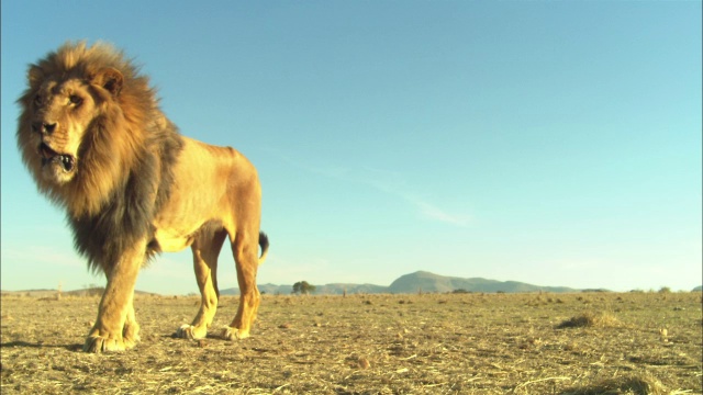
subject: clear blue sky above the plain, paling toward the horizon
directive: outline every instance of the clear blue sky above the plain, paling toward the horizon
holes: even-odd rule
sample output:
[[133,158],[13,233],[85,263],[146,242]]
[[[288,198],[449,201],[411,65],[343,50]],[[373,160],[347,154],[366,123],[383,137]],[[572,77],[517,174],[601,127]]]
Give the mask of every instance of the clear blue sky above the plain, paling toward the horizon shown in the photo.
[[[259,283],[427,270],[690,290],[701,2],[2,2],[2,290],[102,283],[16,153],[26,66],[113,43],[182,134],[258,168]],[[236,285],[230,249],[220,286]],[[137,289],[197,292],[190,250]]]

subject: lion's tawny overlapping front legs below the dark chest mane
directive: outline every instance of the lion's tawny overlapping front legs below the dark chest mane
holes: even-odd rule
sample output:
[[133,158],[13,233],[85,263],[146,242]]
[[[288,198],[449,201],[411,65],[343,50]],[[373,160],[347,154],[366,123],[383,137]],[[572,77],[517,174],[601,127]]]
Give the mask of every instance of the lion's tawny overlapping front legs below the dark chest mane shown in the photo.
[[86,338],[83,351],[124,351],[138,341],[140,326],[136,324],[133,305],[134,284],[144,261],[145,247],[145,242],[137,242],[112,268],[100,301],[96,325]]

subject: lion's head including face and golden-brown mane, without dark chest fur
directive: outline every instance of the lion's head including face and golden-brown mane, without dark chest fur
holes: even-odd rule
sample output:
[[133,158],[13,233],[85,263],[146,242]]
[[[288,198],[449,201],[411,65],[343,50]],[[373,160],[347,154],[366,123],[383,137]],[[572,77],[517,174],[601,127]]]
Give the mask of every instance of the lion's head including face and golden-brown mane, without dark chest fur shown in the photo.
[[107,44],[67,43],[31,65],[27,82],[18,101],[24,163],[72,216],[97,213],[165,122],[147,79]]

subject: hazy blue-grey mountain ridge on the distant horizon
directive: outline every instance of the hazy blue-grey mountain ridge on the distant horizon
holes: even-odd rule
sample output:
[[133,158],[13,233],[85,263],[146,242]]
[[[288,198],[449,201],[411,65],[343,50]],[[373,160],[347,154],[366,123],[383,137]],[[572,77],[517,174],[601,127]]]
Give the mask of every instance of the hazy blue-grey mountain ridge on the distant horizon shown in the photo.
[[[314,284],[313,284],[314,285]],[[267,294],[290,294],[293,290],[292,285],[275,285],[275,284],[260,284],[258,285],[261,293]],[[488,280],[481,278],[455,278],[445,276],[426,271],[417,271],[414,273],[401,275],[393,281],[389,286],[375,285],[375,284],[344,284],[333,283],[325,285],[316,285],[316,295],[341,295],[358,294],[358,293],[445,293],[454,291],[467,291],[467,292],[505,292],[505,293],[520,293],[520,292],[578,292],[579,290],[570,289],[567,286],[540,286],[533,285],[517,281],[498,281]],[[236,287],[222,290],[221,295],[238,295],[239,290]]]

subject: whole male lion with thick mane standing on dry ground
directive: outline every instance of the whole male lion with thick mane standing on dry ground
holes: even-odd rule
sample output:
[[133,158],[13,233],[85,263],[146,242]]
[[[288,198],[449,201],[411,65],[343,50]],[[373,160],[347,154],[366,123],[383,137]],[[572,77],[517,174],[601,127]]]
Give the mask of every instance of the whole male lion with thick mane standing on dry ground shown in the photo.
[[140,269],[189,246],[202,297],[196,318],[176,336],[204,338],[217,308],[225,238],[241,298],[222,336],[248,337],[260,302],[257,269],[269,247],[259,229],[255,167],[233,148],[181,135],[148,78],[110,44],[67,42],[29,66],[27,84],[18,100],[22,161],[38,191],[65,208],[77,251],[107,276],[83,351],[133,348]]

